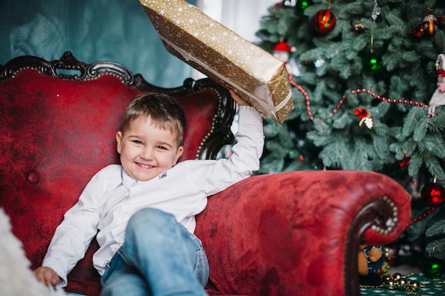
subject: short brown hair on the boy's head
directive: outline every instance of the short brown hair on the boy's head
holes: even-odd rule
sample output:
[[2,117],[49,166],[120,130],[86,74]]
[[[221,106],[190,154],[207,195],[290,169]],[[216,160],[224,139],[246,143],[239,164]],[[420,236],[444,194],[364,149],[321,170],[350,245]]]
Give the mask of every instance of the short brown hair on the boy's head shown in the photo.
[[186,129],[186,116],[173,97],[156,92],[139,94],[134,97],[134,100],[125,109],[122,133],[126,131],[134,119],[140,116],[150,116],[157,127],[176,133],[176,142],[178,146],[182,145],[184,130]]

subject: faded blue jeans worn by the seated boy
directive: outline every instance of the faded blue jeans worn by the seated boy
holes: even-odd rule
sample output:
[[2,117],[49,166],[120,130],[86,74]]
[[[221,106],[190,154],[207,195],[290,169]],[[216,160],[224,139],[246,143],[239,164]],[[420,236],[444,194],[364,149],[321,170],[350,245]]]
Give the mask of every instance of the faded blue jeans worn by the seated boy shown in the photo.
[[142,209],[102,276],[102,296],[207,295],[208,261],[200,240],[171,214]]

